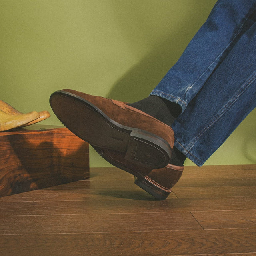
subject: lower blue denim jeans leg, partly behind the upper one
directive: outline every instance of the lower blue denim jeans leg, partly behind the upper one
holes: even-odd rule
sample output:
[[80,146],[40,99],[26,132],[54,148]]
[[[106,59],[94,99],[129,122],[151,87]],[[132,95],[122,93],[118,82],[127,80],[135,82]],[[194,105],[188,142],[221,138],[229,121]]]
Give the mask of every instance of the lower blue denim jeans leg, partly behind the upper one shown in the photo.
[[256,11],[251,23],[172,127],[174,145],[198,166],[256,107]]

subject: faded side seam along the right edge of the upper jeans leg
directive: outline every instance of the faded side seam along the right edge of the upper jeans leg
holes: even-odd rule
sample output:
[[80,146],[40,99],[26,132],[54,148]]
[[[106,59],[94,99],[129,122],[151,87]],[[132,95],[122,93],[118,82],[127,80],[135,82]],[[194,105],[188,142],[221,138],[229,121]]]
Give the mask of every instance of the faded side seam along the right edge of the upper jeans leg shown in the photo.
[[[182,102],[186,102],[185,100],[181,100],[181,98],[184,98],[184,96],[187,94],[188,90],[190,90],[192,87],[194,87],[194,85],[196,83],[198,83],[200,81],[200,78],[204,77],[204,75],[206,77],[209,77],[212,70],[214,70],[214,68],[216,67],[215,64],[218,64],[218,62],[220,61],[221,57],[224,55],[224,52],[226,50],[228,50],[228,48],[230,48],[230,45],[232,44],[232,42],[234,42],[234,40],[237,38],[238,34],[241,32],[244,24],[246,24],[246,22],[248,21],[248,19],[250,18],[250,15],[254,12],[255,10],[253,10],[250,14],[248,14],[247,17],[245,17],[244,22],[242,23],[242,25],[240,26],[240,28],[237,30],[236,34],[234,35],[234,37],[232,38],[232,40],[230,40],[229,44],[226,45],[226,47],[222,50],[222,52],[215,58],[215,60],[206,68],[206,70],[200,75],[198,76],[198,78],[194,81],[193,84],[190,84],[190,86],[188,86],[188,88],[186,89],[186,91],[184,92],[184,94],[182,96],[180,96],[180,98],[178,98],[178,101],[182,101]],[[213,66],[213,67],[212,67]],[[209,73],[210,72],[210,73]],[[208,75],[209,74],[209,75]],[[187,105],[187,104],[186,104]]]

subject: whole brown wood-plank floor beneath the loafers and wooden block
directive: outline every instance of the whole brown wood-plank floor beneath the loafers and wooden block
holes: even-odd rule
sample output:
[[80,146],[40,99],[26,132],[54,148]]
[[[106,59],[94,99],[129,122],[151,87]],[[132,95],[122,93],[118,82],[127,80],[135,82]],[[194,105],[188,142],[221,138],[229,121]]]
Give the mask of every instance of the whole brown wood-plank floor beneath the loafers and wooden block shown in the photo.
[[1,256],[256,256],[256,165],[186,166],[156,201],[117,168],[0,198]]

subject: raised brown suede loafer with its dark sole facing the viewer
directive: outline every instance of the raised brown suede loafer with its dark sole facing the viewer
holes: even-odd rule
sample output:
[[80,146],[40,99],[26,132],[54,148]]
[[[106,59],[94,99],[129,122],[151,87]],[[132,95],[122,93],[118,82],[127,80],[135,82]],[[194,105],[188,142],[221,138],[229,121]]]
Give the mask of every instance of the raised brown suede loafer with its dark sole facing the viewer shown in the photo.
[[124,154],[130,164],[159,169],[170,161],[172,128],[124,102],[65,89],[50,96],[50,105],[76,136]]

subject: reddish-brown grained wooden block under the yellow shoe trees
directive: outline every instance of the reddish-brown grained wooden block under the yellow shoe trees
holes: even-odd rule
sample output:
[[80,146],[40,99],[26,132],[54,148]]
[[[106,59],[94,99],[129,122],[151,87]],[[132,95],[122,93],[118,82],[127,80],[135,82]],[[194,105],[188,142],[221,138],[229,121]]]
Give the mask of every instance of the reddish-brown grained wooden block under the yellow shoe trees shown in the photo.
[[0,196],[89,178],[89,144],[62,126],[0,132]]

